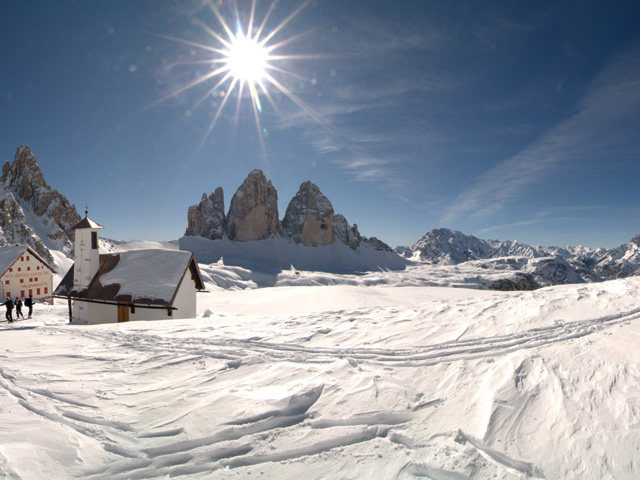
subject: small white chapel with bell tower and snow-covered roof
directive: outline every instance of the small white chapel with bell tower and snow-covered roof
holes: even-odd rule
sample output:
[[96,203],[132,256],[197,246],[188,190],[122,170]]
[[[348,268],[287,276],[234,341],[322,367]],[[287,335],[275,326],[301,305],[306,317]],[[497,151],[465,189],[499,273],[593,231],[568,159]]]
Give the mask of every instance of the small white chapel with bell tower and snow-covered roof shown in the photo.
[[70,323],[196,316],[196,292],[204,290],[204,282],[193,253],[146,249],[100,254],[102,228],[86,216],[72,228],[75,262],[54,292],[67,299]]

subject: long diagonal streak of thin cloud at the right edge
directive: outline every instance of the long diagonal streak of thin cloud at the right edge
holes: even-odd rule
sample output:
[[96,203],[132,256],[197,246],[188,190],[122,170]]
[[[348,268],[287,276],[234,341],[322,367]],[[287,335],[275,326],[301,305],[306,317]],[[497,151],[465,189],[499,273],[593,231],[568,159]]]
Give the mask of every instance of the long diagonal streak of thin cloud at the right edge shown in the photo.
[[486,171],[454,201],[442,223],[491,216],[528,185],[586,153],[612,146],[612,127],[640,107],[640,47],[619,55],[592,81],[577,113],[520,153]]

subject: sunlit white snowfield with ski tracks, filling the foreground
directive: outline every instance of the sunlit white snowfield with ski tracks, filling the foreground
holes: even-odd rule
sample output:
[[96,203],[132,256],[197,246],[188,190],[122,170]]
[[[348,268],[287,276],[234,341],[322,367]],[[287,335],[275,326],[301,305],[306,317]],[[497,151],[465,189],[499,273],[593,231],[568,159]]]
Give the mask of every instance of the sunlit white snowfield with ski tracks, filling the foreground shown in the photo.
[[370,275],[210,283],[192,320],[1,323],[0,478],[638,478],[640,278]]

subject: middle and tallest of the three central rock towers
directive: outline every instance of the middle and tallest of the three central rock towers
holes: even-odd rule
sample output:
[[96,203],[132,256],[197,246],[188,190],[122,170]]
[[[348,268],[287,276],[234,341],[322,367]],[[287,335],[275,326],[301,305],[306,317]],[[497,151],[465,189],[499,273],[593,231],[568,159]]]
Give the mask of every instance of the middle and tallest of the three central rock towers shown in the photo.
[[227,235],[231,240],[247,242],[278,233],[278,193],[261,170],[253,170],[231,199]]

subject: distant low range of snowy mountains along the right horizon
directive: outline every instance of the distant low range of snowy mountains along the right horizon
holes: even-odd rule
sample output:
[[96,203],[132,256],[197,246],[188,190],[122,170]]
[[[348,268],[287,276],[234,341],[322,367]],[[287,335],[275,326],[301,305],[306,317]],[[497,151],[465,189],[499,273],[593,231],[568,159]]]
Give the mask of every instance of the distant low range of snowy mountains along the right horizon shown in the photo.
[[541,284],[611,280],[640,274],[640,236],[615,248],[583,246],[541,247],[516,241],[483,240],[457,230],[436,228],[411,248],[397,247],[399,255],[413,261],[457,265],[477,261],[486,266],[497,259],[517,257],[513,270],[531,273]]

